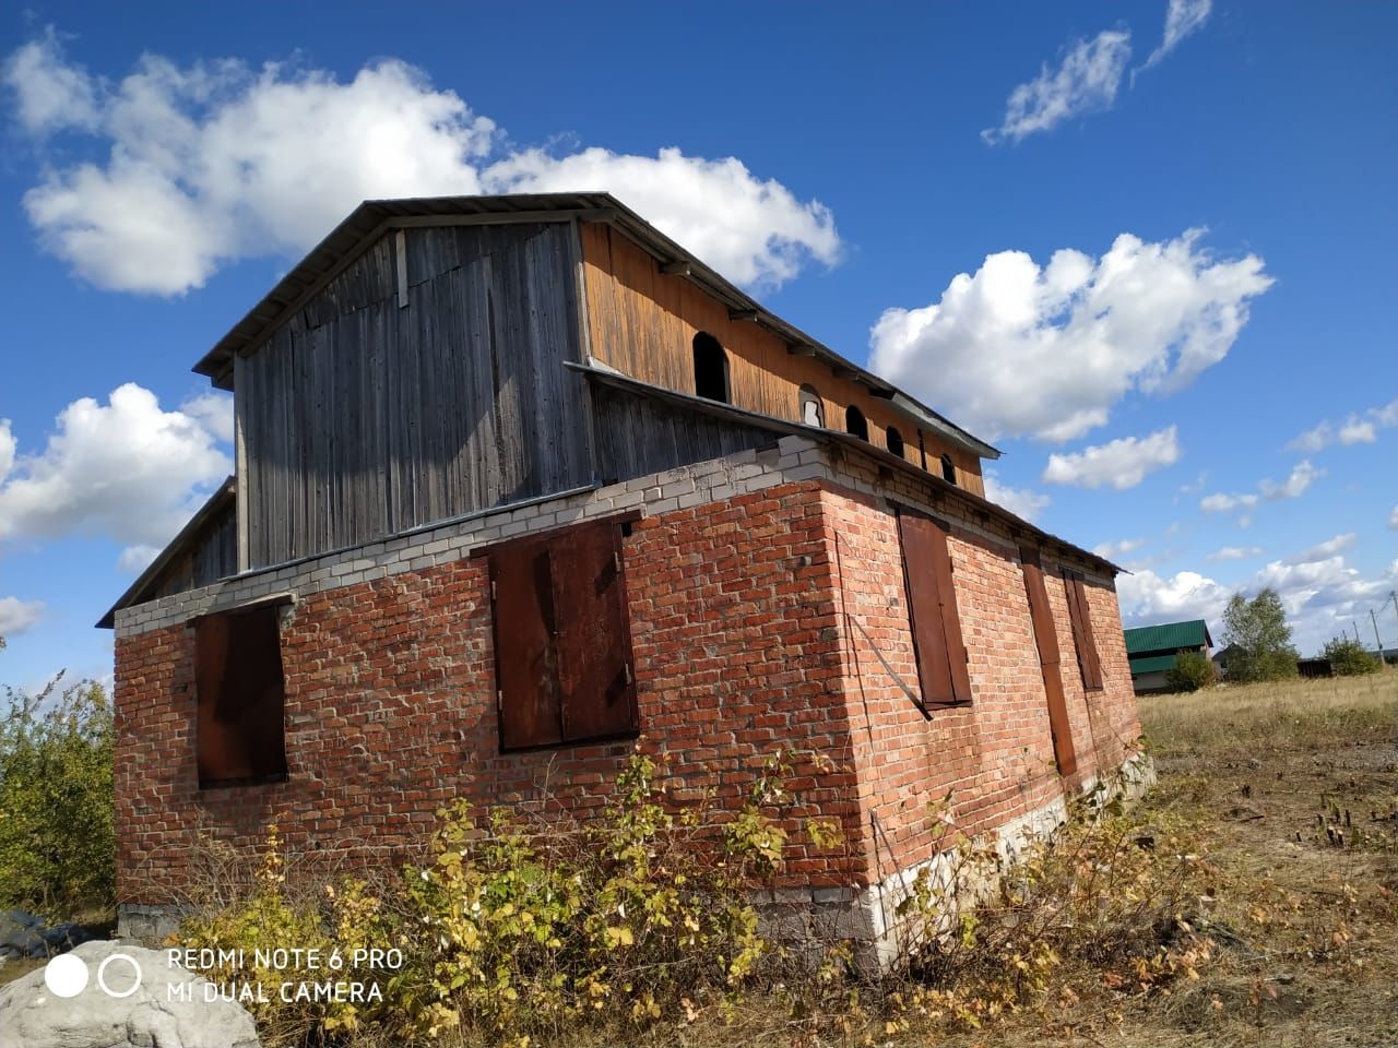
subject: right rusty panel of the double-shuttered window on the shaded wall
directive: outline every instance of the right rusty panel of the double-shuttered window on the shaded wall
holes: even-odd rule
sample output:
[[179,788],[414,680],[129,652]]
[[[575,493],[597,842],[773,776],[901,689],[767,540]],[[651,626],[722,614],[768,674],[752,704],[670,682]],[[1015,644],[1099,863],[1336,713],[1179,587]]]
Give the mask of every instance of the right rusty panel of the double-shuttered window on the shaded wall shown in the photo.
[[615,524],[576,528],[549,551],[563,738],[632,735],[639,721],[621,530]]

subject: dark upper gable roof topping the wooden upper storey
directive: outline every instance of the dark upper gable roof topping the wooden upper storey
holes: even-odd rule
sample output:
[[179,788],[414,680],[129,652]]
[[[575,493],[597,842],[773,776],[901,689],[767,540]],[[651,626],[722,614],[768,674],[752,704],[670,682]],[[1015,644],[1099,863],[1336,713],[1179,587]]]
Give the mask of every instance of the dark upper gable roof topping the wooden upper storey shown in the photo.
[[520,193],[488,197],[410,197],[366,200],[282,277],[261,302],[229,328],[194,365],[197,374],[214,386],[231,390],[233,358],[252,352],[327,282],[343,272],[390,229],[443,225],[488,225],[499,222],[607,222],[646,249],[657,263],[698,284],[733,313],[751,317],[818,359],[846,373],[875,395],[888,400],[942,440],[973,451],[981,458],[1000,458],[1000,451],[937,414],[907,393],[872,372],[847,361],[774,313],[769,313],[734,284],[705,265],[693,254],[656,229],[610,193]]

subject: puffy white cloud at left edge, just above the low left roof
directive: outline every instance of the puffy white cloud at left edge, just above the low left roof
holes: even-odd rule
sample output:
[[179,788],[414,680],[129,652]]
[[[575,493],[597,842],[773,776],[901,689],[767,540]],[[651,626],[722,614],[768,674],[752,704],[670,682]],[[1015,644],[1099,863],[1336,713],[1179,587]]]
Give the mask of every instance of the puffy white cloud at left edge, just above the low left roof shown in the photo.
[[41,453],[0,472],[0,542],[80,534],[162,546],[232,470],[200,419],[162,411],[134,383],[106,404],[73,401],[56,423]]

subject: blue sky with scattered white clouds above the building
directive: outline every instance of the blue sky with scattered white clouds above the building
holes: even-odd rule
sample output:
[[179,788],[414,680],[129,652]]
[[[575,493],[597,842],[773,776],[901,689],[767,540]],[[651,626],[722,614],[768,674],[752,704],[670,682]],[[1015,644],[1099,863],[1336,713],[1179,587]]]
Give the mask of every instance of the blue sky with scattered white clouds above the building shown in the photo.
[[0,15],[0,682],[228,470],[193,362],[363,196],[608,189],[995,442],[1127,625],[1398,641],[1392,6]]

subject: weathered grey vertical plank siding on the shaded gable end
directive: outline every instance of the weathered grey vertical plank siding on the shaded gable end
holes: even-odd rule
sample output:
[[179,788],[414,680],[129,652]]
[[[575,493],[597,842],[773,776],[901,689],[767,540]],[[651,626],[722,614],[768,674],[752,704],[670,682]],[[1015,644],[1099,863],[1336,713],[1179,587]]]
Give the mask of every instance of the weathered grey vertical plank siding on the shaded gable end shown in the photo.
[[235,362],[250,567],[591,478],[570,226],[394,240]]

